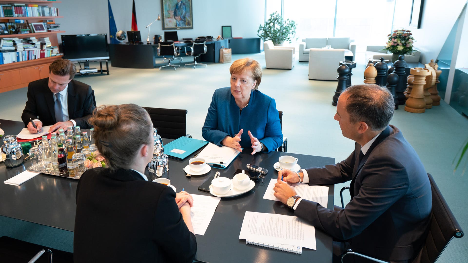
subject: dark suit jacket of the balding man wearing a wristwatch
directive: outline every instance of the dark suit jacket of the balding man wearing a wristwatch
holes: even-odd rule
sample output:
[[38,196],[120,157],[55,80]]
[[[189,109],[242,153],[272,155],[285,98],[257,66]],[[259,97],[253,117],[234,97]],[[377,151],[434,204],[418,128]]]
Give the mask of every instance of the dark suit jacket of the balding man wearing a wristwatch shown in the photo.
[[383,260],[416,256],[431,213],[431,185],[417,153],[395,126],[380,133],[357,163],[361,146],[344,161],[309,168],[310,185],[351,181],[351,202],[341,211],[302,200],[295,216],[356,252]]

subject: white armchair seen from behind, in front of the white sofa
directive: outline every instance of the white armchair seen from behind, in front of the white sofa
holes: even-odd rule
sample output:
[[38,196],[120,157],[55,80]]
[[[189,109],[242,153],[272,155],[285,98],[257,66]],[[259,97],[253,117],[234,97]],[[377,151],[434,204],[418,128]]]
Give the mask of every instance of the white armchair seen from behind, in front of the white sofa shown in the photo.
[[309,80],[337,80],[336,70],[344,60],[344,49],[311,48],[309,52]]

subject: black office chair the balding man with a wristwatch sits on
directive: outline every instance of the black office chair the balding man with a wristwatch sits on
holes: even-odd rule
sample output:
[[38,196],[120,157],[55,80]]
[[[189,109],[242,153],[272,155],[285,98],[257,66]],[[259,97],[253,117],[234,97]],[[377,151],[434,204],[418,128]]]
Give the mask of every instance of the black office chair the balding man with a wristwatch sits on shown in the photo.
[[[431,174],[427,174],[427,176],[429,177],[432,191],[431,223],[429,224],[428,233],[424,240],[423,247],[419,250],[419,253],[413,260],[413,263],[436,262],[452,238],[461,238],[463,236],[463,230],[461,230],[457,219],[453,216],[445,198],[440,193],[439,187],[437,187],[434,178]],[[343,190],[344,188],[342,191]],[[341,203],[343,204],[343,196],[341,197]],[[356,253],[352,251],[352,249],[348,249],[348,251],[343,253],[341,256],[341,262],[343,262],[343,258],[347,255],[360,256],[379,263],[388,263],[386,261]]]

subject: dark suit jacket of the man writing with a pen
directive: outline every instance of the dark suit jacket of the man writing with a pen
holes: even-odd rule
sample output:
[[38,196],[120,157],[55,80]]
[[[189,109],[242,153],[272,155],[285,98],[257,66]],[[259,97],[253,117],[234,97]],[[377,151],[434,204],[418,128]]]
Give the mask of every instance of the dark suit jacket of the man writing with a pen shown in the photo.
[[[49,89],[48,83],[49,78],[29,83],[28,101],[21,116],[24,125],[28,125],[29,118],[41,120],[44,126],[57,123],[54,111],[54,95]],[[88,84],[77,80],[68,83],[68,116],[81,129],[92,128],[88,124],[88,119],[95,109],[91,93],[91,86]]]

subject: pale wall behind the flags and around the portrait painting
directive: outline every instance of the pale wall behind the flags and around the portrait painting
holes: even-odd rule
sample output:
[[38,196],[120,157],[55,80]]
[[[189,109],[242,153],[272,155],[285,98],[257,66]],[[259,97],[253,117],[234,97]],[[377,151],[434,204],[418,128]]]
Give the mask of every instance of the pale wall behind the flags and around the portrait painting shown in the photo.
[[[110,5],[117,30],[131,30],[132,0],[110,0]],[[64,16],[56,19],[61,24],[60,28],[66,31],[64,35],[109,34],[107,0],[62,0],[62,3],[54,4],[54,7],[59,7],[60,15]],[[145,41],[148,34],[146,25],[162,15],[161,0],[135,0],[135,12],[141,38]],[[257,37],[257,29],[263,24],[264,13],[264,0],[196,0],[193,1],[193,29],[177,30],[177,35],[179,39],[217,37],[221,35],[221,26],[231,25],[233,37]],[[156,21],[151,25],[150,39],[155,34],[163,35],[161,22]]]

